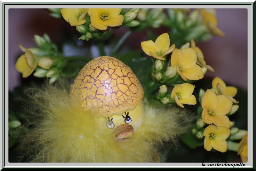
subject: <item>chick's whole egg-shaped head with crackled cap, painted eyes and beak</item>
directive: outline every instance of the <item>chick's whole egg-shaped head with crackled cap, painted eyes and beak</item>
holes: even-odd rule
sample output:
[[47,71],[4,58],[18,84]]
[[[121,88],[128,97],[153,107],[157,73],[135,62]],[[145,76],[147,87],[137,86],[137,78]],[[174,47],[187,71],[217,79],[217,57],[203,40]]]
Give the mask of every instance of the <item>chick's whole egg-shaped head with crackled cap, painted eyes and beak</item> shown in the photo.
[[113,129],[116,140],[132,136],[140,127],[143,88],[131,68],[116,58],[101,56],[88,62],[71,85],[85,110]]

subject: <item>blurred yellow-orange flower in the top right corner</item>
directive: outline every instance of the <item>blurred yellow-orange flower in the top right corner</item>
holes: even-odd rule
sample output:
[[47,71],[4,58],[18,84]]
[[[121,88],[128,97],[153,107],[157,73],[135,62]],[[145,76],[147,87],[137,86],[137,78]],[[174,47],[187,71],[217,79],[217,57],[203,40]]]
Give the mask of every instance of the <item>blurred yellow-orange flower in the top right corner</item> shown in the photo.
[[207,26],[209,31],[214,36],[224,37],[225,34],[217,28],[218,21],[215,17],[214,9],[200,9],[203,24]]

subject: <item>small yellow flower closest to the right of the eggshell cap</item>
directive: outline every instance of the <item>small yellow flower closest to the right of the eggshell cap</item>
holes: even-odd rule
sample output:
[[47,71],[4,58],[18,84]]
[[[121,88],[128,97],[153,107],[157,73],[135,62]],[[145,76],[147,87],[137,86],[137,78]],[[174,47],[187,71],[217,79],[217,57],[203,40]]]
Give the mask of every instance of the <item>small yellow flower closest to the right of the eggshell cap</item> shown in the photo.
[[183,84],[176,84],[172,89],[171,98],[175,99],[175,102],[180,107],[184,108],[183,104],[196,104],[196,97],[192,95],[195,86],[183,83]]

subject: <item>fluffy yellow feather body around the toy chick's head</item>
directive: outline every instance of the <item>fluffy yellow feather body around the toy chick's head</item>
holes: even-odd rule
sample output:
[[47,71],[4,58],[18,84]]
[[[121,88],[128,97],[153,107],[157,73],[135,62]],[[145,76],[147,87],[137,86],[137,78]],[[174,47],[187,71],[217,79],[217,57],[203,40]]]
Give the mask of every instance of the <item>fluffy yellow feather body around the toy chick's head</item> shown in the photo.
[[176,143],[189,123],[185,110],[145,104],[140,128],[118,142],[106,122],[82,109],[65,87],[60,83],[27,92],[25,108],[34,118],[28,123],[33,129],[20,137],[20,147],[33,162],[160,162],[159,147]]

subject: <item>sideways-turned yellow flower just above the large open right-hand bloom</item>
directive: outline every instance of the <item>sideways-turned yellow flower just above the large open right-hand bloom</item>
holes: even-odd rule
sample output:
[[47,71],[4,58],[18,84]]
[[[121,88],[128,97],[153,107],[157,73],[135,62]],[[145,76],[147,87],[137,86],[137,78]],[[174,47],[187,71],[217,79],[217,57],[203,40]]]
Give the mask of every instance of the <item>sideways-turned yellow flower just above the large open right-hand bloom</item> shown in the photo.
[[233,86],[226,86],[225,82],[223,82],[223,80],[221,80],[219,77],[215,77],[212,80],[212,88],[217,95],[227,95],[233,103],[238,103],[238,101],[233,98],[236,96],[237,88]]

